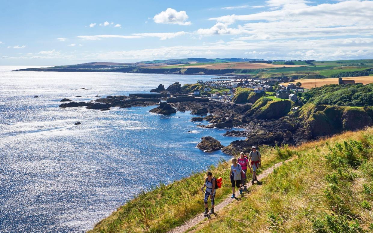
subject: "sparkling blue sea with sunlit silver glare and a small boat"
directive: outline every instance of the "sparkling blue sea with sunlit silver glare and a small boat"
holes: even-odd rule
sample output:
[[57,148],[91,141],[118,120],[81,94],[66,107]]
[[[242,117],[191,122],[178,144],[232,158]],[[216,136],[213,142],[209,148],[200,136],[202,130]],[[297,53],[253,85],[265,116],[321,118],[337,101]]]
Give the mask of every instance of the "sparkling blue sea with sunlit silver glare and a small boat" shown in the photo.
[[28,67],[43,66],[0,66],[0,232],[85,232],[137,193],[231,158],[196,148],[201,137],[244,139],[197,127],[189,111],[58,107],[217,76],[13,71]]

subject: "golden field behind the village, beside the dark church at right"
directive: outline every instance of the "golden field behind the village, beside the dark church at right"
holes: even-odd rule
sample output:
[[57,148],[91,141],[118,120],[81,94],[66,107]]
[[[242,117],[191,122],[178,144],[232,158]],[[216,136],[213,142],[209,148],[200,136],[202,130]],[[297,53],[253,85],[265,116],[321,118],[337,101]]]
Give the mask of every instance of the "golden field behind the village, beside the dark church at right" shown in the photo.
[[[361,77],[349,77],[343,78],[343,80],[355,80],[355,83],[362,82],[363,84],[370,84],[373,82],[373,76],[361,76]],[[328,84],[338,84],[338,78],[326,78],[326,79],[297,79],[292,83],[301,82],[304,88],[310,89]],[[283,83],[282,85],[288,85],[289,82]]]

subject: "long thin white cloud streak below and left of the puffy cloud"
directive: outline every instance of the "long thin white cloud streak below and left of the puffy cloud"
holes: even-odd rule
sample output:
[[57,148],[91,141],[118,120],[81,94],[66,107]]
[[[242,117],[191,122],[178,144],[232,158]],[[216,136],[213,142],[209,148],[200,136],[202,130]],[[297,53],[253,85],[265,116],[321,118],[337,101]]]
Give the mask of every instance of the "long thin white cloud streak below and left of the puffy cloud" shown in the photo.
[[81,40],[101,40],[104,38],[122,38],[122,39],[140,39],[144,37],[158,37],[160,40],[171,39],[180,35],[185,35],[186,32],[149,32],[149,33],[132,33],[131,35],[79,35]]

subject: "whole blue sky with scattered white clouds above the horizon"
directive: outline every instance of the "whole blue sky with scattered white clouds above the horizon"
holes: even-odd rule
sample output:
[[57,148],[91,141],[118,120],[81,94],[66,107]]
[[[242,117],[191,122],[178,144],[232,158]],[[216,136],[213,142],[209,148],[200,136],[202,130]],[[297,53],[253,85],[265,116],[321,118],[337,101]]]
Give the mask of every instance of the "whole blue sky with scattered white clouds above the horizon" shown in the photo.
[[0,65],[373,59],[373,1],[1,1]]

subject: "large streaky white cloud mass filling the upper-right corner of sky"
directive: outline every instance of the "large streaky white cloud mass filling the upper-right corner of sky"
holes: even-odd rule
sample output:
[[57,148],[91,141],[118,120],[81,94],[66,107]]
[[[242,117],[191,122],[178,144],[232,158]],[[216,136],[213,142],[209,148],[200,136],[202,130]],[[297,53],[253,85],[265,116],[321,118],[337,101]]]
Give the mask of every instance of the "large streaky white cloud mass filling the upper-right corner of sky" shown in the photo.
[[[373,18],[373,1],[348,0],[315,6],[308,5],[309,1],[305,0],[269,0],[266,3],[276,9],[210,18],[217,21],[216,25],[197,32],[202,35],[243,35],[239,40],[373,35],[373,25],[367,20]],[[246,23],[228,28],[237,21]],[[216,29],[218,26],[220,30]]]

